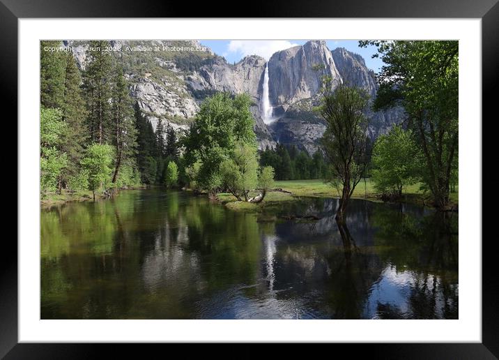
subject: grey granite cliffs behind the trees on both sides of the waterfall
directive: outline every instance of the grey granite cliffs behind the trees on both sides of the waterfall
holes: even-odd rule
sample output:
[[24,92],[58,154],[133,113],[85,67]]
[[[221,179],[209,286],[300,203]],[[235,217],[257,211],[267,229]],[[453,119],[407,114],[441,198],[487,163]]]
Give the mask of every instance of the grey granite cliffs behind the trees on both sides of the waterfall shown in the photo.
[[[202,46],[199,41],[151,40],[111,41],[113,46]],[[79,68],[88,62],[85,41],[66,41],[73,47]],[[314,40],[302,46],[276,52],[268,61],[269,98],[275,121],[266,125],[260,108],[266,59],[251,55],[236,64],[227,63],[213,52],[113,52],[125,68],[130,96],[139,104],[146,119],[156,128],[158,121],[176,130],[187,129],[207,96],[217,91],[247,93],[252,99],[254,130],[260,149],[275,147],[276,142],[295,144],[314,153],[325,130],[325,122],[312,111],[318,105],[323,76],[335,84],[346,82],[365,89],[375,98],[374,73],[364,59],[344,48],[330,51],[325,41]],[[385,112],[367,110],[371,118],[369,136],[385,133],[401,121],[401,109]]]

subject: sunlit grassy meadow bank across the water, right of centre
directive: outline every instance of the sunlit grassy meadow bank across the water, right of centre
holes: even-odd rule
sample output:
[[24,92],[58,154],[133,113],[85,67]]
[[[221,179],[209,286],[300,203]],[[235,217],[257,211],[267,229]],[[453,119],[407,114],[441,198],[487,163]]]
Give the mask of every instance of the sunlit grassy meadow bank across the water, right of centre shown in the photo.
[[[218,198],[222,204],[233,210],[252,210],[259,211],[263,207],[272,207],[279,202],[292,201],[296,197],[339,197],[339,193],[329,183],[324,183],[320,179],[314,180],[289,180],[289,181],[275,181],[275,188],[289,191],[290,193],[283,193],[271,191],[267,193],[265,199],[260,204],[251,202],[239,202],[233,195],[229,193],[221,193]],[[255,194],[252,194],[256,195]],[[374,183],[370,179],[360,181],[358,186],[353,191],[353,199],[365,199],[372,202],[383,202],[380,194],[376,193]],[[420,206],[430,206],[431,195],[423,193],[420,190],[420,184],[414,184],[404,187],[402,198],[399,202],[407,202],[410,204],[417,204]],[[452,207],[457,207],[459,204],[459,189],[456,186],[456,192],[450,193],[450,202]]]

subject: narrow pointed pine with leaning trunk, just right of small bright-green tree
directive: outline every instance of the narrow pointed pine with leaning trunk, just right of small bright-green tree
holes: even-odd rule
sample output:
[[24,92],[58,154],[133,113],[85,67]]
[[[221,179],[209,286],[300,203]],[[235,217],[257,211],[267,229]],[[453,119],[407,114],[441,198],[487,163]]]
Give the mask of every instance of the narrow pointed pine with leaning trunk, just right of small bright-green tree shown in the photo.
[[116,68],[112,114],[112,139],[116,148],[116,163],[114,165],[112,183],[116,183],[121,165],[132,159],[137,151],[137,130],[132,114],[132,100],[128,93],[128,84],[123,75],[122,66],[117,66]]

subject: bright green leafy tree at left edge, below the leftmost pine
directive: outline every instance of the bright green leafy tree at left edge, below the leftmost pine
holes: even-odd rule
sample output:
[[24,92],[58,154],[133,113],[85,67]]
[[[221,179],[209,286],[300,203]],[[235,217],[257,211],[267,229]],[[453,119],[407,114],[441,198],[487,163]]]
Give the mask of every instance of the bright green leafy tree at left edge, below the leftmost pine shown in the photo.
[[59,109],[40,109],[40,188],[43,193],[57,188],[62,170],[68,164],[66,153],[60,150],[61,137],[67,124]]

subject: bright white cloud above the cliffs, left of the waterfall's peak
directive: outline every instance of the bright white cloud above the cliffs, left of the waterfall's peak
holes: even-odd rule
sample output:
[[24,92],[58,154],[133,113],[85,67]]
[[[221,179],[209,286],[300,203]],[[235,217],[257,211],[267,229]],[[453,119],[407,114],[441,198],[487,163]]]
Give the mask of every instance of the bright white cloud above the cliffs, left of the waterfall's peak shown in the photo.
[[296,45],[298,44],[288,40],[231,40],[227,45],[227,52],[239,54],[241,57],[259,55],[268,60],[275,52]]

